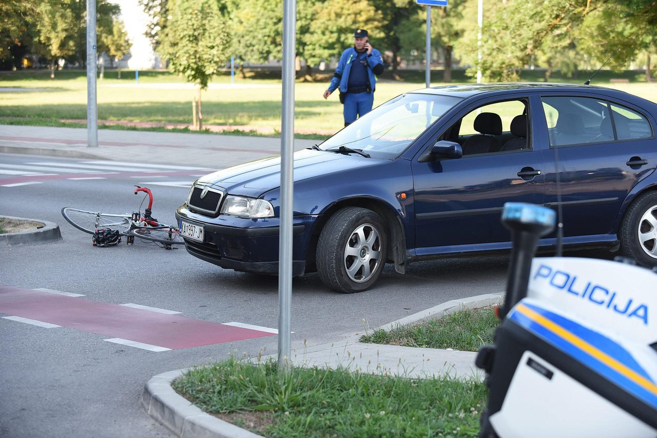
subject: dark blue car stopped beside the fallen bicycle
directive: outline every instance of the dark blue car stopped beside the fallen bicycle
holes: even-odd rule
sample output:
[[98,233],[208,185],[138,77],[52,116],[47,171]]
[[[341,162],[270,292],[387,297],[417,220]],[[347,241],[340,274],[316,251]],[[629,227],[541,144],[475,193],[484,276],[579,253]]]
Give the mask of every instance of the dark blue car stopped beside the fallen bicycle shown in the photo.
[[[557,208],[564,245],[657,264],[657,104],[590,85],[450,85],[398,96],[294,154],[293,271],[365,290],[385,263],[510,249],[505,202]],[[280,158],[196,181],[187,251],[278,272]],[[555,246],[555,235],[540,242]]]

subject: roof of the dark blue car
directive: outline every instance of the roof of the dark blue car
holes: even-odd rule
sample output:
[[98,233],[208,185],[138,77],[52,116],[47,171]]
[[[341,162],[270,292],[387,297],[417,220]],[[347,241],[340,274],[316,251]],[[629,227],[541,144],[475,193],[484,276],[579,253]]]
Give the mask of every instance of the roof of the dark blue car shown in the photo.
[[412,91],[411,93],[423,93],[433,95],[446,95],[463,97],[472,97],[484,93],[500,93],[505,91],[618,91],[605,87],[596,87],[595,85],[578,85],[573,83],[545,83],[545,82],[507,82],[507,83],[461,83],[455,85],[442,85],[440,87],[424,88]]

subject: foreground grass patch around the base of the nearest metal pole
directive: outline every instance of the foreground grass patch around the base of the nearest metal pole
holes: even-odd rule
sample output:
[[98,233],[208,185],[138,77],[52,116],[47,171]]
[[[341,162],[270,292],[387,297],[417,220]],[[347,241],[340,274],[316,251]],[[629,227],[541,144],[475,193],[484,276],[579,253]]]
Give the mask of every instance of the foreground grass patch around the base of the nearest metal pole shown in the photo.
[[229,359],[173,388],[206,412],[265,437],[476,437],[483,382],[407,379]]

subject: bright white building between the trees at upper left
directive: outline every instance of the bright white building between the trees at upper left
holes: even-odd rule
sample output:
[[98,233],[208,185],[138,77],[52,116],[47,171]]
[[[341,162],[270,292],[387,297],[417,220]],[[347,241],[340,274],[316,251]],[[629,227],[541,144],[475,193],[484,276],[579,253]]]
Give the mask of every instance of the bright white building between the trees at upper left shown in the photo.
[[124,22],[127,37],[132,43],[129,55],[120,61],[122,68],[147,69],[160,68],[160,58],[153,53],[150,41],[145,35],[148,15],[137,0],[110,0],[121,7],[121,20]]

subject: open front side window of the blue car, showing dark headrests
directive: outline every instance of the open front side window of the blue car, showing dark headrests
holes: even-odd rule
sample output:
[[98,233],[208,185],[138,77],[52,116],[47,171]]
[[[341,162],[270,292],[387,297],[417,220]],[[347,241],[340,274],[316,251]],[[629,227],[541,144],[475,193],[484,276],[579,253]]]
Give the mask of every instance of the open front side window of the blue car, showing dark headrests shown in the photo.
[[443,140],[461,144],[463,155],[492,154],[532,147],[525,99],[503,100],[475,108],[454,123]]

